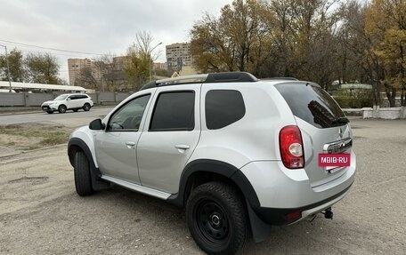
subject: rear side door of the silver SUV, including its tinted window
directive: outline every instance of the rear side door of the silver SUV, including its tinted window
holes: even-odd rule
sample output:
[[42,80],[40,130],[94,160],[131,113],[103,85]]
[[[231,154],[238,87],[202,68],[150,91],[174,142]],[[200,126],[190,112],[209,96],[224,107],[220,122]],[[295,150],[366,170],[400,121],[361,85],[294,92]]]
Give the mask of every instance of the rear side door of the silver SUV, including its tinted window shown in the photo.
[[200,135],[201,84],[163,86],[152,100],[137,146],[142,186],[175,194]]

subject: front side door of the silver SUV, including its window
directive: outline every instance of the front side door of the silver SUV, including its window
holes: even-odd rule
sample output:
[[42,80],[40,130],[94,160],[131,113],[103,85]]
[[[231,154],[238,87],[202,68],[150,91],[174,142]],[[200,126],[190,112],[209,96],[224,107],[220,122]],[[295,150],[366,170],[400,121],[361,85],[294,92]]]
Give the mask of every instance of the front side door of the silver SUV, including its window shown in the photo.
[[95,154],[102,175],[140,184],[135,148],[149,100],[150,94],[129,100],[111,115],[106,131],[96,134]]

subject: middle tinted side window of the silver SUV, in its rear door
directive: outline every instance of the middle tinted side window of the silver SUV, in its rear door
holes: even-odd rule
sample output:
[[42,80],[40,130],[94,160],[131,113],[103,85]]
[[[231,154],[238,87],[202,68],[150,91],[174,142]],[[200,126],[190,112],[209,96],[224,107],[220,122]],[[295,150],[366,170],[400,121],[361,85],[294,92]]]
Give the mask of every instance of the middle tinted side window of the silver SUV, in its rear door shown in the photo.
[[191,131],[194,129],[194,92],[163,92],[150,121],[150,131]]

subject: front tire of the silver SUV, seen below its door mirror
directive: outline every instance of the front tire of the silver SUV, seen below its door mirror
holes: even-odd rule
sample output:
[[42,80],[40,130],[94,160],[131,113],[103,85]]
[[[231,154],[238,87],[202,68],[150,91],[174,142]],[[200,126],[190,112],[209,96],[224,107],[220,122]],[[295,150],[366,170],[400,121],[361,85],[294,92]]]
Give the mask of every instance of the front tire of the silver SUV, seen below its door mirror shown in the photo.
[[77,195],[92,195],[93,187],[90,176],[90,164],[83,151],[78,151],[75,155],[74,175]]

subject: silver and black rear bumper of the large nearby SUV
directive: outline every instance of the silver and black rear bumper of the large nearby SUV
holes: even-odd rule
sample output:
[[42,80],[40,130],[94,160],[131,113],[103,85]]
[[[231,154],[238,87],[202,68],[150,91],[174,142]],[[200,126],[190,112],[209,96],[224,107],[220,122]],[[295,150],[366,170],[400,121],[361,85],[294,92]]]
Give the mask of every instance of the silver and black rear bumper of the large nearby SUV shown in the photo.
[[[323,211],[345,197],[353,184],[356,158],[337,178],[312,187],[304,169],[287,170],[280,161],[257,161],[240,169],[259,201],[251,203],[257,216],[272,225],[285,225]],[[249,201],[248,201],[249,202]]]

